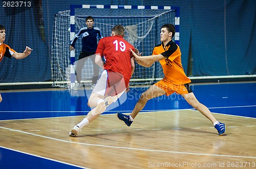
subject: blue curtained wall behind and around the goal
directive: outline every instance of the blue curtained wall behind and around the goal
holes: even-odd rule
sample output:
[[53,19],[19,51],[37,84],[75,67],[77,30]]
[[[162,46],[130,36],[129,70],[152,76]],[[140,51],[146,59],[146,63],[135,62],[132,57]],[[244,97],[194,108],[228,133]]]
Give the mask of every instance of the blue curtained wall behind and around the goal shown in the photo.
[[[24,60],[5,58],[0,64],[0,82],[51,79],[53,18],[57,12],[69,10],[70,4],[179,6],[180,48],[185,72],[188,71],[190,51],[193,76],[255,74],[256,2],[253,0],[43,0],[44,38],[41,37],[38,20],[34,18],[35,6],[17,11],[14,15],[8,14],[9,9],[0,6],[0,24],[5,25],[9,33],[6,43],[18,52],[22,52],[26,45],[34,49],[31,56]],[[22,76],[24,74],[26,78]]]

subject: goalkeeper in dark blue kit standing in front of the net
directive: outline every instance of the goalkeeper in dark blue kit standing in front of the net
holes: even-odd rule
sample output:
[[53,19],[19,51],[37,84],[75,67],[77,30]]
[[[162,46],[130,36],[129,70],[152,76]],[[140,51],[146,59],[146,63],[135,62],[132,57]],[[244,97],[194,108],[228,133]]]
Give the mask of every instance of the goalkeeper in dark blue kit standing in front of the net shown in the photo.
[[98,46],[97,38],[103,38],[98,27],[94,27],[94,19],[92,16],[86,18],[86,27],[82,27],[75,35],[74,39],[70,43],[70,50],[75,49],[75,42],[82,37],[82,50],[78,57],[78,62],[76,65],[76,80],[77,83],[73,87],[73,90],[78,90],[81,86],[81,74],[84,63],[88,58],[91,58],[93,62],[93,78],[92,78],[92,89],[94,88],[98,76],[99,76],[99,66],[95,63],[95,52]]

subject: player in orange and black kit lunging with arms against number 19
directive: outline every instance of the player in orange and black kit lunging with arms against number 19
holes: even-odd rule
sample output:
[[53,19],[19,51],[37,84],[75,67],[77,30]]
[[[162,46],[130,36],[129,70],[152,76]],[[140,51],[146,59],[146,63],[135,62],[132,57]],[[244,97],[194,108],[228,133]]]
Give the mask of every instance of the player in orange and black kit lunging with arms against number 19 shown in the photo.
[[123,115],[118,112],[117,116],[120,120],[124,121],[127,126],[131,126],[133,119],[137,116],[139,111],[142,110],[148,100],[162,95],[169,96],[175,92],[182,95],[191,106],[207,117],[214,124],[221,136],[225,133],[225,124],[218,122],[215,117],[212,116],[210,110],[197,100],[190,89],[189,83],[191,81],[183,70],[180,48],[172,41],[174,35],[174,25],[164,24],[161,27],[160,33],[162,43],[154,47],[152,55],[141,57],[131,50],[135,61],[141,66],[151,67],[154,62],[159,61],[163,68],[164,78],[142,93],[131,115]]

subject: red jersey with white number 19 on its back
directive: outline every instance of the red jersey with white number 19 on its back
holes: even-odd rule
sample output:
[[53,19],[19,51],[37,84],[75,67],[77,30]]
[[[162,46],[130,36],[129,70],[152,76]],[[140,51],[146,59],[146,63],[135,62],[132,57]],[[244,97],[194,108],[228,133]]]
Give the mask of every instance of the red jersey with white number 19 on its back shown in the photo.
[[135,51],[133,45],[125,41],[122,36],[115,35],[99,40],[96,54],[105,58],[104,69],[121,73],[124,78],[130,80],[132,76],[131,58]]

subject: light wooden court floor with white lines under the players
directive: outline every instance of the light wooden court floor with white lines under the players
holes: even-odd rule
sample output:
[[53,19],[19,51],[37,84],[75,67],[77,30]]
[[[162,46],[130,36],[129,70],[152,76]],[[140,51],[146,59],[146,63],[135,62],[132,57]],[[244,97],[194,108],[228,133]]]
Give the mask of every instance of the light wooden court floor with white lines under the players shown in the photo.
[[256,167],[256,119],[214,116],[224,136],[194,110],[140,113],[131,127],[101,115],[78,137],[69,131],[82,116],[1,121],[0,146],[84,168]]

